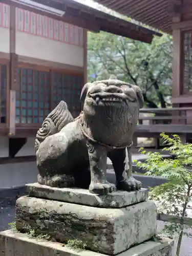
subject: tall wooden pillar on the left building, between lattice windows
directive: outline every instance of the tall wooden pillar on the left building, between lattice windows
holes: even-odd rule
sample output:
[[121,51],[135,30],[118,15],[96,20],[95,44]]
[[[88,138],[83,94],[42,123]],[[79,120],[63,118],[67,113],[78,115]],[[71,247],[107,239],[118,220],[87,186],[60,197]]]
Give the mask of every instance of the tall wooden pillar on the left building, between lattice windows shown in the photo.
[[15,7],[10,6],[9,136],[15,135],[18,57],[15,54]]

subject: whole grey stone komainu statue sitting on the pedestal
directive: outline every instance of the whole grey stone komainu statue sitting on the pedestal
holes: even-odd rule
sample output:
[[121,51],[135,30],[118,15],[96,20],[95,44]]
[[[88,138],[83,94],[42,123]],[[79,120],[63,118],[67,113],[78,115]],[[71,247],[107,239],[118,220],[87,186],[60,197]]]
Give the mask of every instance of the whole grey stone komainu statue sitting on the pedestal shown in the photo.
[[[54,187],[89,188],[100,195],[140,189],[132,176],[130,147],[143,106],[137,86],[117,80],[84,85],[83,112],[73,119],[61,101],[47,116],[35,141],[38,182]],[[128,175],[125,170],[129,156]],[[106,181],[106,160],[112,161],[116,186]]]

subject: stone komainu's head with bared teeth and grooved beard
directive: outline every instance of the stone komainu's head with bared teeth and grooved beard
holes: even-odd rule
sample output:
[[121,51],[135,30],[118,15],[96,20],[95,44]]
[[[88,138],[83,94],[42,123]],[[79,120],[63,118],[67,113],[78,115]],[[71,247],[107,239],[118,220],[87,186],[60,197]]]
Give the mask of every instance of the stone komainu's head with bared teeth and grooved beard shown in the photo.
[[80,98],[84,117],[89,126],[92,126],[92,133],[101,138],[103,131],[107,141],[110,139],[107,139],[108,135],[120,140],[125,133],[133,133],[139,109],[144,102],[139,87],[120,81],[115,76],[108,80],[88,82],[84,85]]

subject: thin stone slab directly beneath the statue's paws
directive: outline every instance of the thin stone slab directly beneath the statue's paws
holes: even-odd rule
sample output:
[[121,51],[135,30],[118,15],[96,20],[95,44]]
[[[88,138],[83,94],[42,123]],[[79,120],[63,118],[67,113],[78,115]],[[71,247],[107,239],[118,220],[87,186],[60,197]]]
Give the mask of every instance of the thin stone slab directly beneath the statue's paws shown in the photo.
[[27,184],[29,196],[53,199],[62,202],[82,204],[95,207],[121,208],[147,200],[148,191],[142,188],[137,191],[116,191],[108,195],[92,194],[87,189],[57,188],[39,183]]

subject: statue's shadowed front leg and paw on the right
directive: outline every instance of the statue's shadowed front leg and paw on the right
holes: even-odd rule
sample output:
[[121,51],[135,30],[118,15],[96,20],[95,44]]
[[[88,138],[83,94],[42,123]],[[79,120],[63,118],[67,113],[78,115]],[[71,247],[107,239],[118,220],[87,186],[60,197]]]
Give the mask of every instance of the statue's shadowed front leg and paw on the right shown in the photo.
[[109,153],[109,158],[112,161],[115,175],[116,188],[118,190],[132,191],[141,188],[141,182],[136,180],[132,175],[132,156],[130,149],[128,149],[129,170],[126,169],[125,161],[126,152],[124,150],[115,150]]

